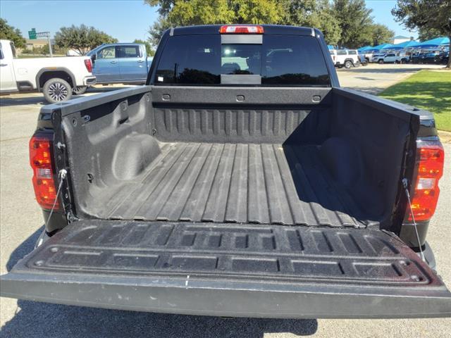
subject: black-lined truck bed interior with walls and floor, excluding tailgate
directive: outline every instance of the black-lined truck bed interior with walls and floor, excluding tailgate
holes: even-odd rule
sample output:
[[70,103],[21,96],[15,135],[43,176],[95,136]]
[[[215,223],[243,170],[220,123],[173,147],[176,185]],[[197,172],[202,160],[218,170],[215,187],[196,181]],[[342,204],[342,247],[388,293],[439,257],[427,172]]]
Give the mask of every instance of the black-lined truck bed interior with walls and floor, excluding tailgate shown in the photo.
[[[237,90],[228,96],[233,99]],[[409,114],[378,115],[358,102],[348,107],[347,96],[364,96],[343,89],[279,89],[292,103],[268,109],[264,96],[271,90],[259,90],[263,106],[242,110],[230,104],[212,108],[211,99],[195,106],[167,103],[161,97],[177,97],[180,89],[154,87],[152,104],[141,95],[68,115],[63,126],[70,135],[78,209],[106,220],[332,227],[387,221]],[[190,97],[220,91],[227,92],[192,88]],[[333,109],[333,100],[342,104]],[[345,106],[361,120],[339,122]],[[74,126],[73,118],[89,123]],[[378,144],[364,141],[364,133],[378,134],[371,138]]]

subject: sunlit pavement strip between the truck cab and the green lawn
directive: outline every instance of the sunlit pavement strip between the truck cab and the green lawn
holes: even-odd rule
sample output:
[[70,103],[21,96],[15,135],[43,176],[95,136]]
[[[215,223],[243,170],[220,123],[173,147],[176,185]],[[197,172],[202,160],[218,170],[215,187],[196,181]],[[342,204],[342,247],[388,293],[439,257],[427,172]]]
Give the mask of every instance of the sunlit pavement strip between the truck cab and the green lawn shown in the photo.
[[383,89],[422,69],[440,69],[444,65],[393,65],[369,63],[357,68],[338,69],[338,78],[342,87],[359,89],[369,94],[378,94]]

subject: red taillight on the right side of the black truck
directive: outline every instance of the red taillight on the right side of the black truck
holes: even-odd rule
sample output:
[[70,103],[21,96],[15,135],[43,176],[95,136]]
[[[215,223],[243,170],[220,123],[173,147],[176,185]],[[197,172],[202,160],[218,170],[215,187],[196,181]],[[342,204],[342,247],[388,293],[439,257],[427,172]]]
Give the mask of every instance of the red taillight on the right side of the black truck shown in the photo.
[[[418,142],[418,175],[412,196],[412,211],[416,221],[430,220],[437,206],[438,180],[443,175],[445,153],[440,142]],[[412,221],[412,213],[407,210],[407,220]]]

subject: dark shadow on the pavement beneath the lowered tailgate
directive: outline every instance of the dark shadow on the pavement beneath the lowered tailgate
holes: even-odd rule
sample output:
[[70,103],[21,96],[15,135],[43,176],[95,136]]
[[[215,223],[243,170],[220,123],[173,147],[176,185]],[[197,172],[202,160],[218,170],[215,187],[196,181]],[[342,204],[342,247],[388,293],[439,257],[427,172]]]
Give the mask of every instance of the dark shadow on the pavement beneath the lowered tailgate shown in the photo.
[[[32,251],[43,227],[11,253],[11,270]],[[317,320],[218,318],[166,315],[18,301],[14,317],[1,327],[2,337],[264,337],[265,333],[314,334]]]

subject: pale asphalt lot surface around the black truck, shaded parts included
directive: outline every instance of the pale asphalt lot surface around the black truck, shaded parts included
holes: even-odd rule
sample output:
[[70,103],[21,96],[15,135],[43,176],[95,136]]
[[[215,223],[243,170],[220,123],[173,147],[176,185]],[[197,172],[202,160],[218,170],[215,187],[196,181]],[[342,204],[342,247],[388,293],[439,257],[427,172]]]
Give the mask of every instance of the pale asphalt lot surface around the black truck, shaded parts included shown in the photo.
[[[344,87],[378,89],[419,68],[415,66],[407,69],[406,75],[398,67],[400,65],[371,65],[350,71],[340,70],[339,77]],[[378,77],[381,78],[378,80]],[[373,80],[366,80],[369,78]],[[103,90],[109,89],[97,92]],[[37,113],[43,104],[41,94],[0,97],[1,274],[32,251],[42,231],[42,215],[32,191],[28,140],[35,130]],[[451,144],[444,146],[445,154],[451,154]],[[429,227],[428,242],[435,252],[438,273],[451,286],[451,263],[448,261],[451,240],[450,156],[445,158],[445,175],[440,180],[440,189],[440,201]],[[1,337],[451,337],[450,318],[224,319],[112,311],[5,298],[0,298],[0,310]]]

